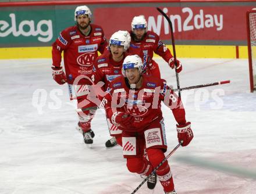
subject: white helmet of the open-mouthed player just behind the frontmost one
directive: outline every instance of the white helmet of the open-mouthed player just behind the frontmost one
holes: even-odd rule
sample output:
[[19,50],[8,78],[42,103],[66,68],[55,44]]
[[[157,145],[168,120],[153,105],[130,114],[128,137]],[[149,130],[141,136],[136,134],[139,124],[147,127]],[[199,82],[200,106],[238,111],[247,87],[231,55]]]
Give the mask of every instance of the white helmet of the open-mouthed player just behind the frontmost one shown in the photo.
[[123,46],[123,49],[127,51],[130,47],[131,37],[128,31],[119,30],[112,34],[109,39],[109,47],[111,45]]

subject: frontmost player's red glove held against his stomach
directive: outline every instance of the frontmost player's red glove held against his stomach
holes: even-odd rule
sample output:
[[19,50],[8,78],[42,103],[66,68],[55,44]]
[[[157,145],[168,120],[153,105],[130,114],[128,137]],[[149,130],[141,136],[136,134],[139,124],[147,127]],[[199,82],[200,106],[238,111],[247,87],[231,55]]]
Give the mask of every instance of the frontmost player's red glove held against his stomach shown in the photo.
[[111,120],[112,123],[116,126],[131,128],[131,125],[134,122],[134,117],[127,113],[116,112],[112,115]]

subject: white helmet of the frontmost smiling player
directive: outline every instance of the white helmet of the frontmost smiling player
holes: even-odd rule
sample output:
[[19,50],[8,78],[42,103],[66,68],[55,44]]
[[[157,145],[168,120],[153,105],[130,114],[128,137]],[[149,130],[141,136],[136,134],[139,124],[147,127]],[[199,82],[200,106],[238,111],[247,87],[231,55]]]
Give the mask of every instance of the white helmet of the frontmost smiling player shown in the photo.
[[126,69],[133,69],[138,68],[138,72],[140,75],[143,71],[143,63],[138,55],[128,55],[126,56],[125,60],[123,60],[123,67],[122,67],[122,74],[124,77],[126,77],[125,70]]

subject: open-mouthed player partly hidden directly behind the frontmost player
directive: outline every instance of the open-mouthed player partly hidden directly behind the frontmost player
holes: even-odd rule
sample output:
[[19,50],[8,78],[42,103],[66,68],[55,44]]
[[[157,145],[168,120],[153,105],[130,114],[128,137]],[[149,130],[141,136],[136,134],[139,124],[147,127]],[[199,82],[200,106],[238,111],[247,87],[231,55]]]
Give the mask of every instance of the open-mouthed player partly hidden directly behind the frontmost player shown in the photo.
[[[109,83],[116,77],[122,75],[123,60],[126,57],[126,51],[130,46],[130,34],[128,31],[117,31],[109,39],[109,51],[104,52],[94,62],[95,82],[104,82],[104,91],[108,88]],[[106,148],[111,148],[118,143],[122,145],[122,131],[118,130],[107,117],[109,132],[113,136],[106,141]]]

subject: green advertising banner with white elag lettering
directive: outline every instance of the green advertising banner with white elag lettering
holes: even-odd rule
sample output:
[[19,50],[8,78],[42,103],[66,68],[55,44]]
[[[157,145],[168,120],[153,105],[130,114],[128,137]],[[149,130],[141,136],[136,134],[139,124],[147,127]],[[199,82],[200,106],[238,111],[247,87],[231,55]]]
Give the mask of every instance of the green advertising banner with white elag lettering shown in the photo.
[[51,45],[59,33],[74,25],[74,10],[0,12],[0,46]]

